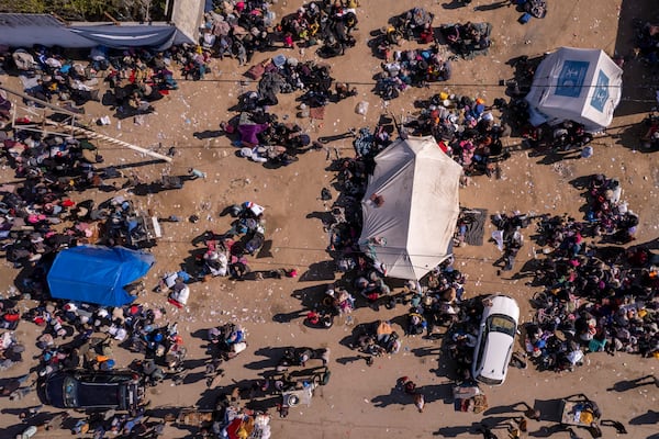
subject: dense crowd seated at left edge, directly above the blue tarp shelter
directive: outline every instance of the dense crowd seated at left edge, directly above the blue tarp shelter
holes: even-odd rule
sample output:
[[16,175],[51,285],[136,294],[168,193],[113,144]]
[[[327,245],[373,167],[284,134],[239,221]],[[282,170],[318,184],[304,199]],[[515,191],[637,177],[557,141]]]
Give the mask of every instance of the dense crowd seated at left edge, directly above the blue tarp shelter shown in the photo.
[[[16,131],[3,142],[2,153],[16,177],[24,179],[0,187],[0,241],[10,262],[34,266],[63,248],[99,238],[94,223],[102,218],[92,215],[93,203],[76,203],[70,194],[89,188],[113,189],[103,184],[105,172],[94,167],[99,156],[93,145],[74,137]],[[72,224],[57,226],[65,221]]]

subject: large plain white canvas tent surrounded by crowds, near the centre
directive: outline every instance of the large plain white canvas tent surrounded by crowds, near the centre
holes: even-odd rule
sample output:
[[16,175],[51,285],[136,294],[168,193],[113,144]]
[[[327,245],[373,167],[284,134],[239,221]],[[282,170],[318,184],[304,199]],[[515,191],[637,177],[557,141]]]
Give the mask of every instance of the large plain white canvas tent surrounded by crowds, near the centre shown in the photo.
[[359,244],[386,275],[421,279],[450,255],[461,173],[432,136],[399,138],[378,154]]

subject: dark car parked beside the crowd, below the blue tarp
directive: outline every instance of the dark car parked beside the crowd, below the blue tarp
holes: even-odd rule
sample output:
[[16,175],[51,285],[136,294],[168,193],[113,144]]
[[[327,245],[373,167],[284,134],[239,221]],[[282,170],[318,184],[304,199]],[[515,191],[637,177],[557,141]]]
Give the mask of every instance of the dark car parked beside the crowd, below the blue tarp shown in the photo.
[[59,371],[43,384],[46,404],[58,408],[134,412],[144,403],[144,383],[133,371]]

